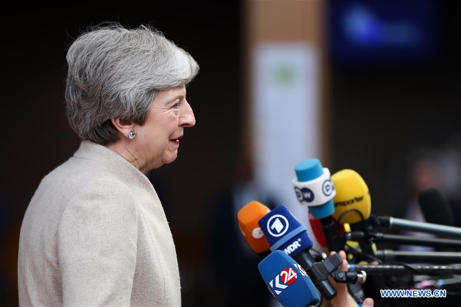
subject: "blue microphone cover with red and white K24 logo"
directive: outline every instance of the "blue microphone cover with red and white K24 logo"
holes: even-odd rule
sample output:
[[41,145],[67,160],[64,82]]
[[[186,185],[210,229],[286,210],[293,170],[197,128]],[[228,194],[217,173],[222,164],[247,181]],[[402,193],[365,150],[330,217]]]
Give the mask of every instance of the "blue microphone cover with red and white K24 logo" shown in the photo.
[[284,252],[274,251],[258,264],[264,282],[283,306],[315,306],[320,302],[306,271]]

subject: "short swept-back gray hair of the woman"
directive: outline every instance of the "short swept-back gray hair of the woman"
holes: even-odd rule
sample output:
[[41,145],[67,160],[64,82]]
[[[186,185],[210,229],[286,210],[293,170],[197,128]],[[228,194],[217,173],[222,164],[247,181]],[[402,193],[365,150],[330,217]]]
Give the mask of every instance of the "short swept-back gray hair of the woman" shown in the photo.
[[187,85],[199,67],[190,54],[153,28],[118,24],[80,35],[67,52],[66,109],[82,139],[118,139],[111,118],[143,125],[161,90]]

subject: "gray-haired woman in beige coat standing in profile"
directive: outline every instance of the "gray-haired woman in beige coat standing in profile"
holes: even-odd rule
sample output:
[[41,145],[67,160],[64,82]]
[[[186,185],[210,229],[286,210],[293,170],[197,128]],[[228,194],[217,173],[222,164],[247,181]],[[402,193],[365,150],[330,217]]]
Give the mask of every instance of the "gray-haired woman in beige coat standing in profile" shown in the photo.
[[67,115],[82,139],[41,182],[19,239],[20,305],[181,304],[172,234],[144,175],[195,125],[195,60],[160,32],[97,27],[67,53]]

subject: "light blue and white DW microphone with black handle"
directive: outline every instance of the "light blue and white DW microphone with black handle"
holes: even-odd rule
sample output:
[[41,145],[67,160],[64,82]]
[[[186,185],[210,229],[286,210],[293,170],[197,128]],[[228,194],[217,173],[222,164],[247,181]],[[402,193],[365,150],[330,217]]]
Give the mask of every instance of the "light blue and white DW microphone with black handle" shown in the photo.
[[342,237],[337,236],[331,220],[336,190],[331,182],[330,171],[322,167],[319,159],[309,159],[298,163],[295,172],[296,178],[291,182],[298,201],[309,208],[314,218],[320,219],[328,249],[339,252],[344,249],[345,242]]

